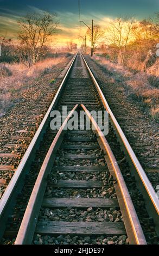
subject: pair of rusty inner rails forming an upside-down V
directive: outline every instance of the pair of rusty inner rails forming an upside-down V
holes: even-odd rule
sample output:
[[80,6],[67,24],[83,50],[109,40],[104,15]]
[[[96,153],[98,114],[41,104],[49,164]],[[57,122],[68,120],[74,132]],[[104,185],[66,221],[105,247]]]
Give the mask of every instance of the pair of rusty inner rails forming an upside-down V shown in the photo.
[[[84,105],[81,105],[81,107],[84,109],[88,118],[90,118],[92,127],[93,128],[96,127],[96,130],[93,130],[93,132],[96,133],[96,135],[98,135],[99,145],[104,150],[104,153],[107,154],[108,156],[108,159],[106,159],[106,162],[108,163],[109,169],[111,170],[111,172],[113,169],[113,175],[118,181],[117,184],[115,184],[115,188],[116,188],[116,192],[119,200],[119,206],[120,208],[122,208],[121,211],[122,211],[122,214],[124,215],[123,218],[125,223],[125,229],[127,231],[130,243],[136,244],[136,245],[145,245],[147,244],[147,242],[145,241],[145,237],[144,237],[141,225],[138,221],[136,211],[133,207],[131,197],[129,195],[128,189],[126,188],[122,173],[120,172],[115,156],[113,155],[109,144],[107,143],[103,133],[101,132],[99,126],[97,125],[96,121],[93,119],[90,112],[88,112],[88,110]],[[44,192],[47,186],[46,178],[47,178],[47,175],[52,170],[53,163],[56,157],[56,151],[60,147],[60,144],[63,140],[63,135],[64,133],[67,132],[67,130],[65,130],[67,121],[69,120],[69,118],[71,118],[73,112],[77,108],[78,108],[78,105],[76,105],[72,109],[71,113],[66,118],[65,122],[63,123],[60,130],[58,131],[56,137],[54,138],[54,141],[50,146],[50,149],[48,150],[46,158],[43,161],[40,173],[37,177],[33,191],[31,193],[26,212],[23,216],[23,220],[16,237],[15,245],[28,245],[28,244],[31,244],[33,240],[37,218],[39,216],[39,211],[42,205]],[[110,165],[111,165],[111,168],[110,168]]]

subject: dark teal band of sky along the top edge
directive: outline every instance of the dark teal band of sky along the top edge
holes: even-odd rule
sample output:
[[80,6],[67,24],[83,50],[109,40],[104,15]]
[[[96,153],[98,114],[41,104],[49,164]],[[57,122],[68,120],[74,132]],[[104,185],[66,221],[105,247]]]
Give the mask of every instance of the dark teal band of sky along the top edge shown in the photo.
[[[84,15],[94,12],[118,16],[136,14],[139,18],[151,15],[159,9],[158,0],[80,0]],[[78,14],[78,0],[0,0],[0,7],[20,14],[29,10],[29,6],[49,11],[72,12]]]

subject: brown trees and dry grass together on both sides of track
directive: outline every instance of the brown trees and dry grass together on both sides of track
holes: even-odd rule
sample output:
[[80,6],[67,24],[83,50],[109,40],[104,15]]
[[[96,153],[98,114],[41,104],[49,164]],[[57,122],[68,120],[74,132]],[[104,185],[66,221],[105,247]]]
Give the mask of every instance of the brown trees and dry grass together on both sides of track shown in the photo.
[[[66,54],[58,57],[60,48],[54,47],[53,53],[48,46],[48,39],[58,26],[55,14],[28,14],[18,24],[21,28],[19,40],[7,39],[5,35],[0,37],[0,61],[3,62],[0,65],[0,109],[3,111],[25,83],[41,74],[48,74],[53,65],[66,58]],[[159,109],[158,38],[159,13],[153,19],[140,22],[133,17],[118,17],[110,22],[106,31],[98,25],[93,26],[93,36],[91,28],[87,31],[87,40],[93,39],[94,59],[111,70],[114,77],[120,76],[128,94],[139,99],[144,107],[148,106],[155,118]],[[91,49],[87,47],[87,50]],[[62,51],[75,52],[77,44],[69,40]]]

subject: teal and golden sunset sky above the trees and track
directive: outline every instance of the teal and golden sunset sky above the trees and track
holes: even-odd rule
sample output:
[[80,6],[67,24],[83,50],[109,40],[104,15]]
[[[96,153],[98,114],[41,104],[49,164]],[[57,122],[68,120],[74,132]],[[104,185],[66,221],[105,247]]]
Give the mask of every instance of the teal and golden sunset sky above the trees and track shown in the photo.
[[[80,3],[81,20],[90,25],[93,19],[101,27],[106,27],[117,16],[131,15],[142,20],[159,10],[158,0],[81,0]],[[65,45],[70,39],[78,42],[78,0],[0,0],[0,35],[7,33],[8,37],[16,38],[17,19],[39,10],[58,14],[60,30],[55,38],[56,45]],[[86,29],[84,25],[81,26],[81,35],[85,35]]]

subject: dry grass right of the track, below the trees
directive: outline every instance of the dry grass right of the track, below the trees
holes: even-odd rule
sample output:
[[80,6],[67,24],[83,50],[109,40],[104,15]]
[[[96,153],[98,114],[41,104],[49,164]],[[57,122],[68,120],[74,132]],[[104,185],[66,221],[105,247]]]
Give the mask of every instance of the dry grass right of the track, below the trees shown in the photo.
[[151,68],[147,69],[147,72],[139,71],[136,74],[103,57],[94,56],[93,59],[111,71],[111,76],[120,79],[122,83],[120,83],[120,87],[117,90],[122,90],[122,84],[128,96],[138,101],[143,108],[148,108],[152,118],[158,119],[159,59]]

